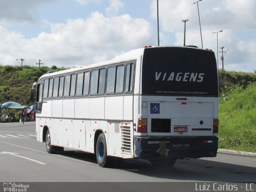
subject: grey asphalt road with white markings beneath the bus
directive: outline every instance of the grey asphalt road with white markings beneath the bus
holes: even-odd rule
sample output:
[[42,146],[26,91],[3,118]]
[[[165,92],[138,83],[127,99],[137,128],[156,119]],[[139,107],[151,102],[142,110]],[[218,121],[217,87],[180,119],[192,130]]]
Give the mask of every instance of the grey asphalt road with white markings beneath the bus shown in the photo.
[[131,159],[101,168],[93,154],[67,148],[48,154],[36,141],[34,122],[0,123],[0,166],[0,182],[256,182],[254,157],[218,154],[177,160],[172,168]]

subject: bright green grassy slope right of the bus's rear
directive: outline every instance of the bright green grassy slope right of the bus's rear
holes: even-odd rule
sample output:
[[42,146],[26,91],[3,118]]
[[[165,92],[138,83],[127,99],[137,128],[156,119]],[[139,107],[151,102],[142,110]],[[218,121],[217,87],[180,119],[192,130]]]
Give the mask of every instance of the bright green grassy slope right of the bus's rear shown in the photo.
[[256,152],[256,83],[222,89],[219,148]]

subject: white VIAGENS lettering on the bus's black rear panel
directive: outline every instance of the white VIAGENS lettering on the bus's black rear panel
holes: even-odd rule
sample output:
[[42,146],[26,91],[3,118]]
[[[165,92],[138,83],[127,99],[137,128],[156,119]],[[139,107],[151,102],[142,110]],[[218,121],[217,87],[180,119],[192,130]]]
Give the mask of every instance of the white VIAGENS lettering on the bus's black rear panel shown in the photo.
[[202,82],[204,80],[204,73],[167,73],[167,72],[156,72],[156,81],[192,81],[192,82]]

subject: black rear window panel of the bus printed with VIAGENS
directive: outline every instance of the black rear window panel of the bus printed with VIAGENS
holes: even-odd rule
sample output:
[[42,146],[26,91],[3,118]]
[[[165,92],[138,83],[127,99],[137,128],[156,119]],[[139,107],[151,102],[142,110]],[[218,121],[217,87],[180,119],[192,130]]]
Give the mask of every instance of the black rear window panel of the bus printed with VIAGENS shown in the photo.
[[142,94],[217,97],[214,52],[189,47],[145,49]]

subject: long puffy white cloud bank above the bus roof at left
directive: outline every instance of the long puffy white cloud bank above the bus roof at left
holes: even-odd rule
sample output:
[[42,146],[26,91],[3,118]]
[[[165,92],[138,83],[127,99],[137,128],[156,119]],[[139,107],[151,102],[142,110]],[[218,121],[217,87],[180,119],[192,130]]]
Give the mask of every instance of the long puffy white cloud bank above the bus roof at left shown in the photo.
[[105,17],[93,12],[89,18],[51,24],[51,32],[36,38],[0,28],[0,64],[17,65],[16,59],[34,65],[41,59],[47,66],[73,67],[114,58],[118,54],[144,45],[153,45],[152,26],[128,14]]

